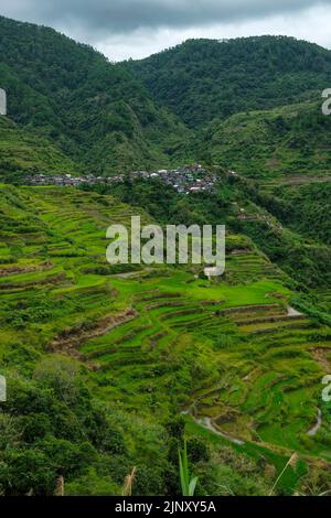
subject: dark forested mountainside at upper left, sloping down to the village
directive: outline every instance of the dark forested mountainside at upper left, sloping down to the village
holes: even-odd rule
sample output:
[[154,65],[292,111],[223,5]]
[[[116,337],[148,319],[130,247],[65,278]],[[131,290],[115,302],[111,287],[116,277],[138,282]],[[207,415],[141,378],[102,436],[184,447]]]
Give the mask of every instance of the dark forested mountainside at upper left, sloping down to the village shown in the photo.
[[188,136],[122,67],[52,29],[0,18],[0,55],[9,116],[86,170],[166,164]]

